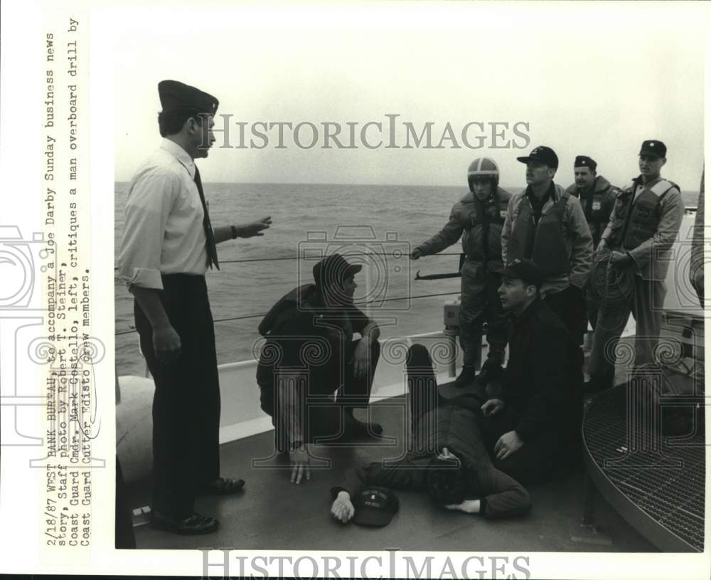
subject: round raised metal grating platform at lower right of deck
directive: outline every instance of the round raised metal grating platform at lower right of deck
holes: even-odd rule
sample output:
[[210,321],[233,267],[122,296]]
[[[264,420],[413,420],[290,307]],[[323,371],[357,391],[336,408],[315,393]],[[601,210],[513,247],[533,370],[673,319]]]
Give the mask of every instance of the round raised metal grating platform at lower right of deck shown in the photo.
[[[631,513],[639,517],[630,523],[639,532],[657,538],[668,534],[669,545],[680,545],[680,539],[689,549],[703,552],[704,433],[673,441],[665,436],[663,426],[646,431],[641,426],[628,427],[627,404],[626,386],[618,386],[599,394],[589,405],[583,422],[589,458],[618,497],[637,508]],[[701,404],[695,411],[701,428],[703,410]]]

